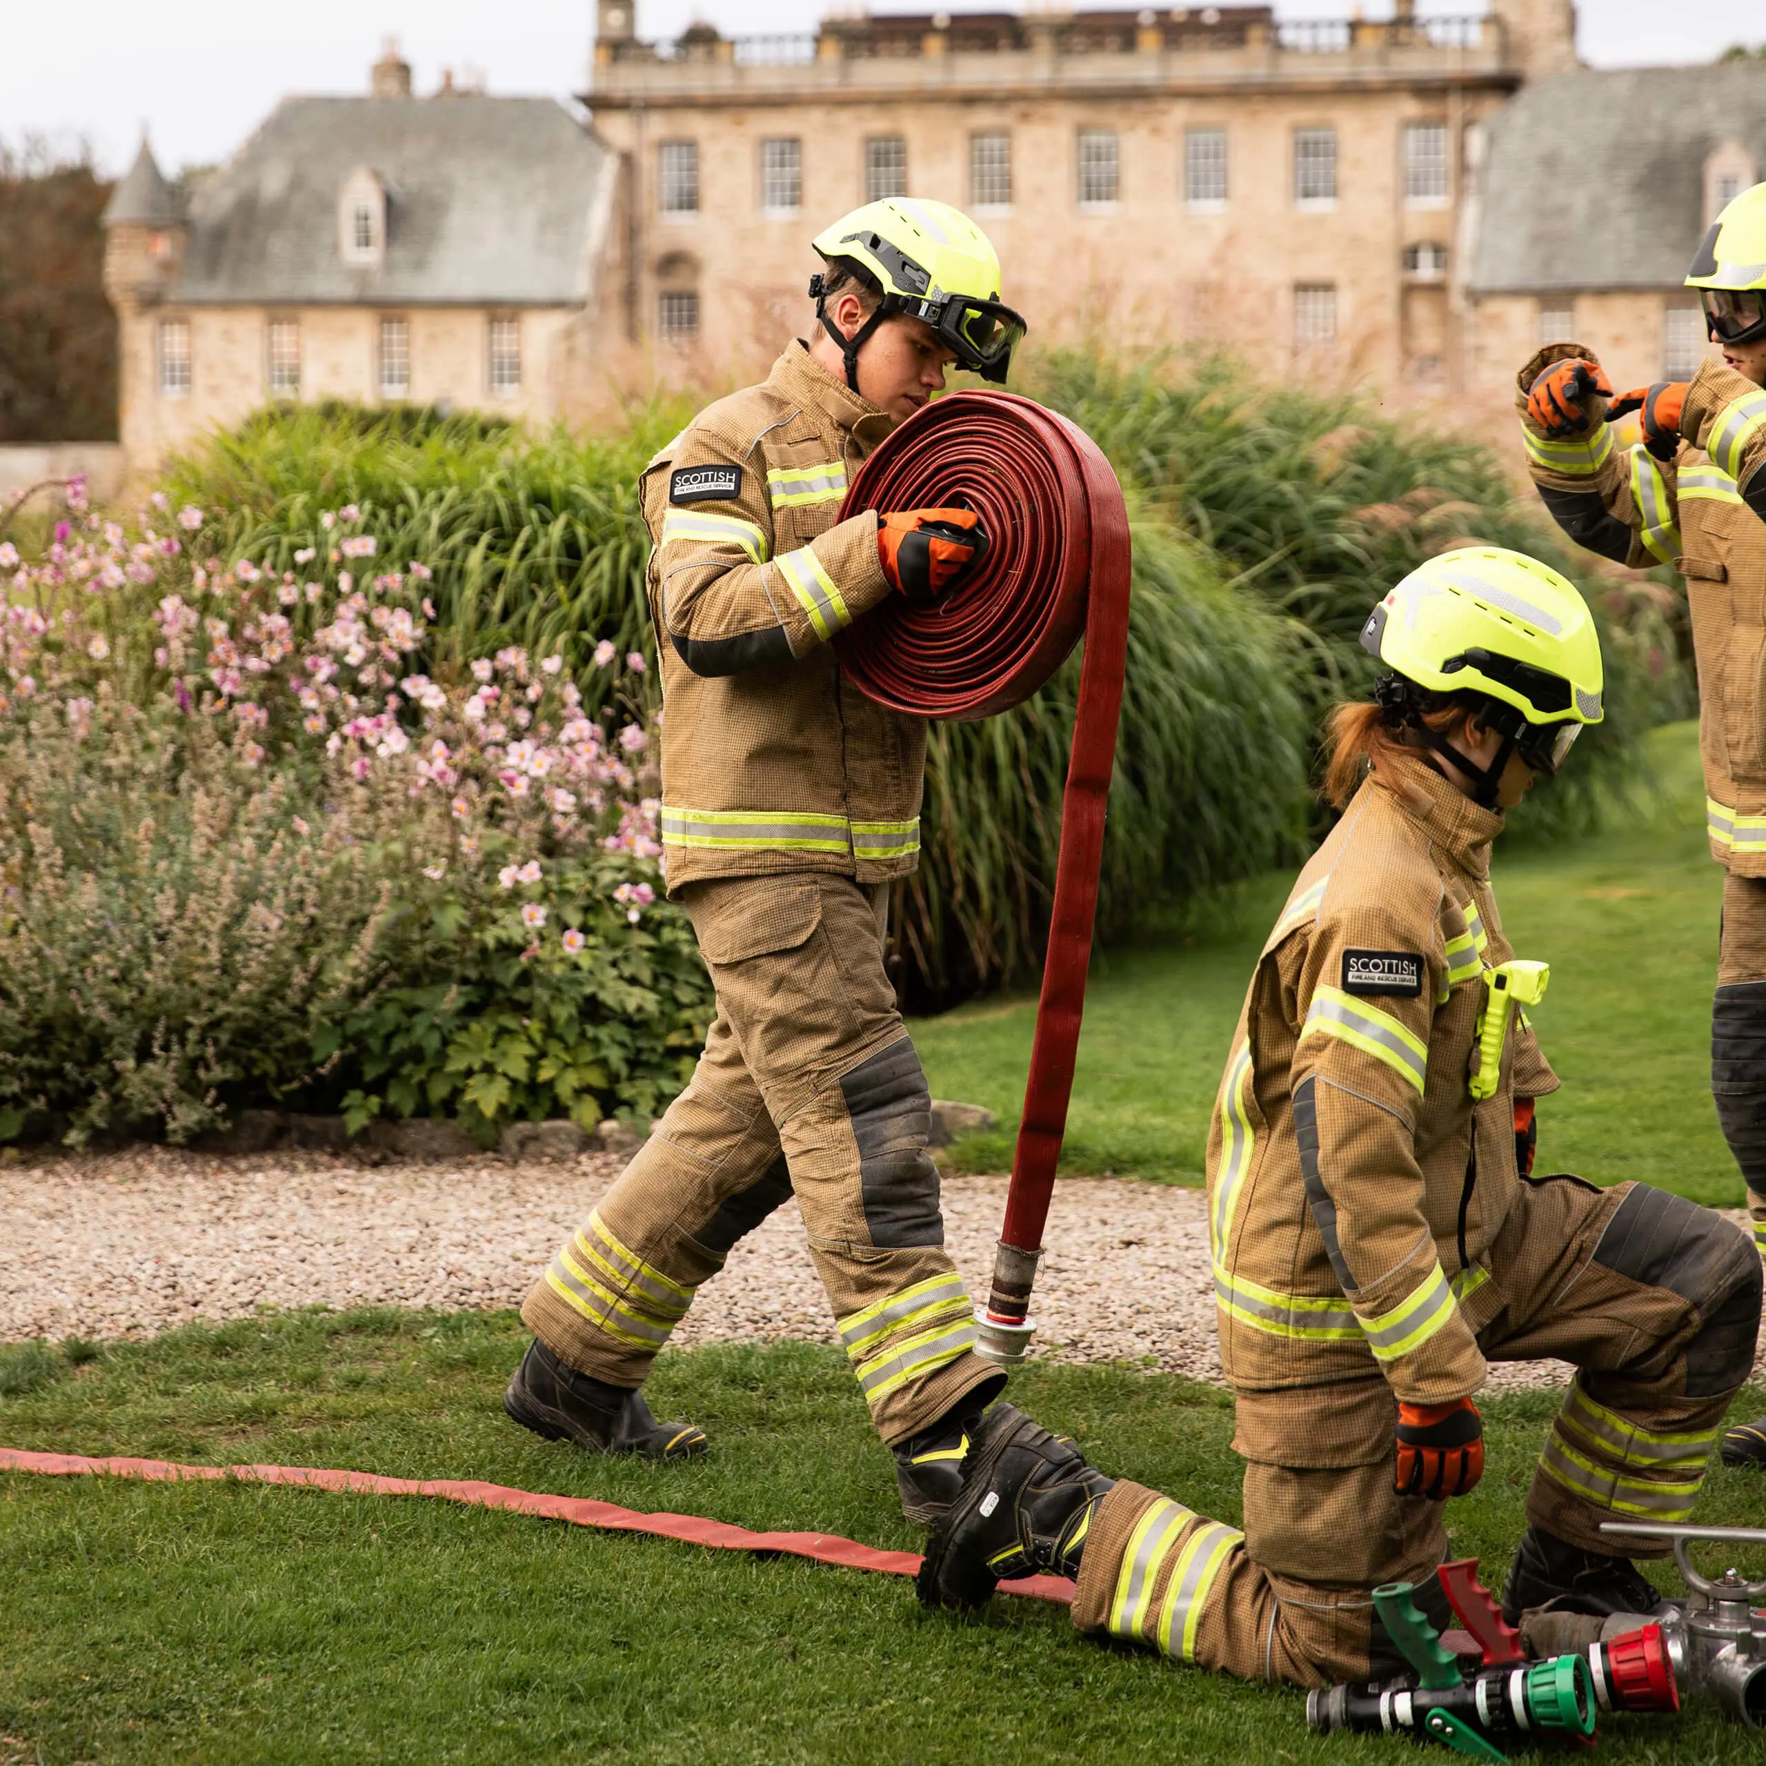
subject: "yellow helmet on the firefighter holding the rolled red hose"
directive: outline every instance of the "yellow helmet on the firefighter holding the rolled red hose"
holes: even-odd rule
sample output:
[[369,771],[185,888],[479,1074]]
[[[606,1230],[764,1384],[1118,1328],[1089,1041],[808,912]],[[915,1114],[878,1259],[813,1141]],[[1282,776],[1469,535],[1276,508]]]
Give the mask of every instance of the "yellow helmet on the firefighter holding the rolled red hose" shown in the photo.
[[846,383],[858,390],[858,350],[887,318],[906,313],[938,332],[959,367],[1005,381],[1012,350],[1030,328],[1000,300],[1000,254],[992,240],[950,203],[888,196],[842,215],[814,238],[828,265],[857,270],[883,293],[878,309],[846,337],[826,313],[826,277],[812,275],[816,318],[846,357]]

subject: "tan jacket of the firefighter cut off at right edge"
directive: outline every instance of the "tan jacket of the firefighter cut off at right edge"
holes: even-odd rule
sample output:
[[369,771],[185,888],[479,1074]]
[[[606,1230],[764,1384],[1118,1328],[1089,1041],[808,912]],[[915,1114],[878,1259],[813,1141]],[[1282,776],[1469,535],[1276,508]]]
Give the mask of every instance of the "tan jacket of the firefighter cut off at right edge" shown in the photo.
[[1528,390],[1552,362],[1547,344],[1517,376],[1533,482],[1577,544],[1632,569],[1671,563],[1687,579],[1699,660],[1699,749],[1711,857],[1738,876],[1766,876],[1766,390],[1722,362],[1692,376],[1679,454],[1619,449],[1593,401],[1586,436],[1552,440],[1526,415]]

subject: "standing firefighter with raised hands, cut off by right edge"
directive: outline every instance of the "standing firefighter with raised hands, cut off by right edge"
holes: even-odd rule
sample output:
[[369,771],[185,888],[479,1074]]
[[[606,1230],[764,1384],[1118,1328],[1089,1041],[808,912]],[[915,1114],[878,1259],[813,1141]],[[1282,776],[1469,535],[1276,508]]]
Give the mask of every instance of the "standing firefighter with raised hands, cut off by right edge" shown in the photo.
[[[1766,184],[1717,217],[1687,286],[1722,360],[1614,399],[1593,350],[1554,343],[1521,369],[1515,406],[1533,482],[1565,533],[1687,579],[1711,857],[1727,872],[1711,1093],[1766,1257]],[[1616,449],[1607,424],[1630,411],[1642,442]],[[1732,1429],[1722,1452],[1766,1464],[1766,1422]]]

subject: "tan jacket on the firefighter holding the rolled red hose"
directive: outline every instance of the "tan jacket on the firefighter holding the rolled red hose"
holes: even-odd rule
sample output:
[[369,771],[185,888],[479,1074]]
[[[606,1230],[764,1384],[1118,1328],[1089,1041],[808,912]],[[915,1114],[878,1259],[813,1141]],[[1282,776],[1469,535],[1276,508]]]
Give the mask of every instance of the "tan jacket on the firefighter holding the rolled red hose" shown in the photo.
[[918,864],[925,724],[867,699],[828,648],[890,593],[876,514],[835,516],[892,427],[793,343],[645,468],[669,892]]

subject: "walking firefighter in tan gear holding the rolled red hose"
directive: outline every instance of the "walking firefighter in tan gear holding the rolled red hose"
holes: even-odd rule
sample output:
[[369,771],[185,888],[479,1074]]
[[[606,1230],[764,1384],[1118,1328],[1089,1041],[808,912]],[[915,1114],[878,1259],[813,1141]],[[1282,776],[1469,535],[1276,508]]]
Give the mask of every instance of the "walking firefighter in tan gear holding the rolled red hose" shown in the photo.
[[816,240],[818,330],[703,410],[641,479],[662,657],[662,846],[717,1019],[692,1083],[533,1284],[521,1425],[599,1452],[705,1452],[639,1386],[731,1247],[796,1196],[841,1342],[932,1522],[1003,1385],[945,1254],[931,1097],[883,970],[888,885],[920,849],[925,726],[865,699],[828,641],[985,551],[966,509],[837,519],[848,473],[945,383],[1003,381],[1023,320],[987,237],[890,200]]

